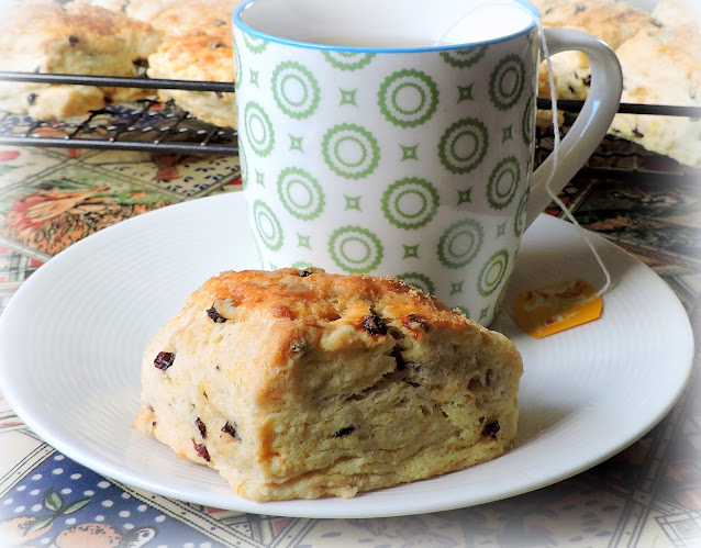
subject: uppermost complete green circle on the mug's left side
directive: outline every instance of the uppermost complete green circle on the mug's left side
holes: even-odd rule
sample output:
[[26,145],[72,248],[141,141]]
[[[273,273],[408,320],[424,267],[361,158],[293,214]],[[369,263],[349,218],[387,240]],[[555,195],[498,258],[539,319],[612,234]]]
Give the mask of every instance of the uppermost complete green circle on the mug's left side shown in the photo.
[[272,97],[282,112],[294,120],[311,116],[319,107],[319,82],[303,65],[280,63],[272,71]]

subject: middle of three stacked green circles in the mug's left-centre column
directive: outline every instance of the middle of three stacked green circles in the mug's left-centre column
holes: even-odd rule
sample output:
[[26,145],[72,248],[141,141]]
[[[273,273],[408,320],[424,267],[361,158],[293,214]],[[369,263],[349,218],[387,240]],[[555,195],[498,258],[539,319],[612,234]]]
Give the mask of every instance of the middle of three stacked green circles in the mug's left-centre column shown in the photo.
[[321,146],[329,168],[346,179],[367,177],[380,161],[377,139],[359,125],[334,125],[324,135]]

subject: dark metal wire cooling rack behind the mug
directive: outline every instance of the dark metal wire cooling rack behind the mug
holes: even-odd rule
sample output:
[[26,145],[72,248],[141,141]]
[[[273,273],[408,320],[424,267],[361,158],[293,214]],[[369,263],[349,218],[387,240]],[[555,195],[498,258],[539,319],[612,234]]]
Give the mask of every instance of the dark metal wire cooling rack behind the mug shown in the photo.
[[[234,92],[233,82],[204,82],[124,77],[76,75],[45,75],[2,72],[0,80],[35,83],[71,83],[142,89],[182,89],[214,93]],[[577,113],[582,101],[561,100],[558,110]],[[538,109],[549,109],[549,100],[538,99]],[[654,114],[701,119],[701,108],[657,104],[622,103],[624,114]],[[159,103],[154,99],[93,111],[87,116],[68,121],[37,121],[21,114],[0,111],[0,145],[43,146],[65,148],[101,148],[147,150],[175,154],[238,154],[237,134],[227,127],[202,122],[175,103]],[[553,138],[537,132],[535,164],[543,161],[553,150]],[[664,174],[667,176],[701,177],[701,170],[680,165],[670,158],[647,152],[625,139],[607,136],[590,157],[583,171],[617,178],[635,174]]]

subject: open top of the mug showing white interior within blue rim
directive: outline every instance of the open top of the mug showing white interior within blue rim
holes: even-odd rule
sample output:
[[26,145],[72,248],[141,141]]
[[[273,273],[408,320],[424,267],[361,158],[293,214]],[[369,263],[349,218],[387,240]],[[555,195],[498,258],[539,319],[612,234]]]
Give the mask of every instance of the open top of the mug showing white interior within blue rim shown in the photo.
[[520,34],[536,19],[522,0],[248,0],[234,12],[254,36],[336,51],[452,48]]

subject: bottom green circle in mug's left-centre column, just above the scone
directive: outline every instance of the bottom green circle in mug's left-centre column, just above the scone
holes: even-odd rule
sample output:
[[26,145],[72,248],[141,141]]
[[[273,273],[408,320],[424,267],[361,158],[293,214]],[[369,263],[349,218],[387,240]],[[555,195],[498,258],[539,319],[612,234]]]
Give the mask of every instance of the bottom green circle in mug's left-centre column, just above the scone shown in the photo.
[[329,238],[334,262],[352,273],[367,273],[381,262],[385,250],[375,234],[359,226],[342,226]]

